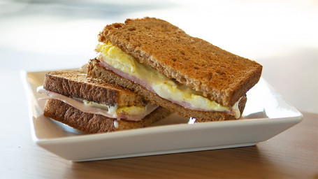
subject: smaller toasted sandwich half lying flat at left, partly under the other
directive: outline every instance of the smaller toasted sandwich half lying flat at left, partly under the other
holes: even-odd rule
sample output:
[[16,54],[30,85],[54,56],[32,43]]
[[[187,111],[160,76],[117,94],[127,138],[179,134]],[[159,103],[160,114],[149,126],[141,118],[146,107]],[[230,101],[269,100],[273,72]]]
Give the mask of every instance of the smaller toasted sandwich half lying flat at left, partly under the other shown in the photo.
[[147,127],[170,111],[130,90],[87,78],[81,70],[49,71],[38,92],[44,115],[87,134]]

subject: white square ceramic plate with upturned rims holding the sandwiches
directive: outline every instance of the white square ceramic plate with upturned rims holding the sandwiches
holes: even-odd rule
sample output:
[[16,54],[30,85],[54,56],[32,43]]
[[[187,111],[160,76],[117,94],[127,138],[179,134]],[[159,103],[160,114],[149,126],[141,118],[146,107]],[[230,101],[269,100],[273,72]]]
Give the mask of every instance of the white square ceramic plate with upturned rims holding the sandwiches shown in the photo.
[[43,85],[45,72],[21,72],[29,101],[32,138],[55,155],[77,162],[256,145],[303,118],[261,78],[247,92],[240,120],[188,124],[187,118],[174,113],[152,127],[82,134],[43,116],[45,101],[37,100],[42,94],[36,93],[36,87]]

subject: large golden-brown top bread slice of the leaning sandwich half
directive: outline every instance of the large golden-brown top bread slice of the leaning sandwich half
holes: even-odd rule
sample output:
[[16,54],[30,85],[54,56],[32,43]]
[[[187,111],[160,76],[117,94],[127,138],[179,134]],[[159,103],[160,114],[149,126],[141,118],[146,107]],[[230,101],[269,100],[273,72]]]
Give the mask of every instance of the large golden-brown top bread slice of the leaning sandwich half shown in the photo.
[[260,64],[191,37],[157,18],[107,25],[99,41],[112,43],[138,62],[223,106],[233,106],[261,77]]

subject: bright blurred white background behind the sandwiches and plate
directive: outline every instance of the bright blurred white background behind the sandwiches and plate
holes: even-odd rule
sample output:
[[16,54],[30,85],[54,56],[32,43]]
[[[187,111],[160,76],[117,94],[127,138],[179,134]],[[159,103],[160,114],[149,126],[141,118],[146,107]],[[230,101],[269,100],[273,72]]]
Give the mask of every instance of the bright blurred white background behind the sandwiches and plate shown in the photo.
[[318,1],[270,0],[0,0],[1,95],[13,99],[0,108],[18,106],[26,117],[21,70],[82,66],[96,56],[106,24],[145,16],[259,62],[263,78],[287,101],[318,113]]

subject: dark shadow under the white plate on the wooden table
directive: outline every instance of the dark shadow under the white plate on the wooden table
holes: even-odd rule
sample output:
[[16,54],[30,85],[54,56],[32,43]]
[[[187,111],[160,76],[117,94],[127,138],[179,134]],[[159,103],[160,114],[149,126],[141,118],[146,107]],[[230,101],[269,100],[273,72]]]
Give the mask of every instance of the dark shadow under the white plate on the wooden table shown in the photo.
[[75,178],[259,178],[275,169],[257,146],[155,155],[95,162],[73,162],[66,176]]

